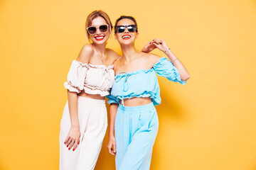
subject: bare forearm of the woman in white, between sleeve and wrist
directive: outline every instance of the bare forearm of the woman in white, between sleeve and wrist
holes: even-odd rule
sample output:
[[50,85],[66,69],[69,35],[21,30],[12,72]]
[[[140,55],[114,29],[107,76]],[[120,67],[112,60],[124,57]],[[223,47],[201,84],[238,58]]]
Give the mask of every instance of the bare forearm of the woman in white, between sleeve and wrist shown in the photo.
[[68,90],[68,108],[70,111],[71,127],[79,127],[78,121],[78,94]]

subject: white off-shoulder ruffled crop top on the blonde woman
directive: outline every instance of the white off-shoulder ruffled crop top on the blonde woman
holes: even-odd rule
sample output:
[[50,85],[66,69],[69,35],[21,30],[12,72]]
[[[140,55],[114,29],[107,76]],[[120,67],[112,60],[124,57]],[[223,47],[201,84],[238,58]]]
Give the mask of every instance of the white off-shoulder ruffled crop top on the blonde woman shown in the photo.
[[107,96],[114,83],[114,65],[93,65],[73,60],[68,81],[64,83],[65,89],[87,94],[100,94]]

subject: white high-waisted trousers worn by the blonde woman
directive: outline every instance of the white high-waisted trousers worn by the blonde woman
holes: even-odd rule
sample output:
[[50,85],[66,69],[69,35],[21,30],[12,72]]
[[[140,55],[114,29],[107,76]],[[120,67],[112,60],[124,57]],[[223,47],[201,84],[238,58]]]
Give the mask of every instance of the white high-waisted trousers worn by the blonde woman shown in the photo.
[[78,96],[80,144],[73,151],[64,144],[71,127],[68,102],[60,121],[60,170],[91,170],[95,168],[107,130],[105,100]]

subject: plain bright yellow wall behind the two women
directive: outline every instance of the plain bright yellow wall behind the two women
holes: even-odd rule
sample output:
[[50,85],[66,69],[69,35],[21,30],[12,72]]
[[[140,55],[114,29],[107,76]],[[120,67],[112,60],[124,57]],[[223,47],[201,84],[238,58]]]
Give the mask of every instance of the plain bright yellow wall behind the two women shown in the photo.
[[[0,169],[58,169],[63,82],[95,9],[135,16],[137,47],[163,38],[191,74],[185,86],[159,78],[151,169],[255,170],[255,0],[1,0]],[[106,145],[97,170],[114,169]]]

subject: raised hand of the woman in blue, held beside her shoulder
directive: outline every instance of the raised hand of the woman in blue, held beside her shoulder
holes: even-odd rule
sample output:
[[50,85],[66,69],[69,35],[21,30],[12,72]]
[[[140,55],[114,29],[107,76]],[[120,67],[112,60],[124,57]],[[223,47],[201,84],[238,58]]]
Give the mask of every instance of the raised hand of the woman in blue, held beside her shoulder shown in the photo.
[[166,45],[166,42],[158,38],[155,38],[154,40],[151,40],[151,42],[147,43],[143,47],[142,52],[149,53],[155,48],[158,48],[162,52],[166,53],[166,55],[168,54],[169,47]]

